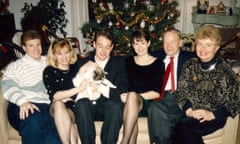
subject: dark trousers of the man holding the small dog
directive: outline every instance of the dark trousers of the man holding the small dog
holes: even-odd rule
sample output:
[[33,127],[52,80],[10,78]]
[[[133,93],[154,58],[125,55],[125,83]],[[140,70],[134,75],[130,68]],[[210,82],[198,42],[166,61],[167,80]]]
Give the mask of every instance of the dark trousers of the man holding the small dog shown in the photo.
[[103,121],[101,141],[116,144],[123,119],[123,103],[100,97],[96,104],[87,98],[76,102],[74,108],[78,132],[82,144],[95,144],[94,121]]

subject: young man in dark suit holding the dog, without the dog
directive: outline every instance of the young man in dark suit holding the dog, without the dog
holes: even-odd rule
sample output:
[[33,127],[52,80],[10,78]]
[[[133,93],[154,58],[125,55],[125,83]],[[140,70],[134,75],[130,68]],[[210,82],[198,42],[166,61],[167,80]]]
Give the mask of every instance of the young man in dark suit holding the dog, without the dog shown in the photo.
[[101,142],[103,144],[117,143],[119,130],[123,119],[123,106],[120,95],[127,91],[128,80],[123,57],[111,56],[113,36],[108,31],[99,31],[93,43],[95,53],[80,61],[91,60],[106,72],[105,78],[113,84],[95,84],[93,87],[101,93],[98,99],[82,97],[76,101],[74,108],[78,132],[82,144],[94,144],[96,131],[94,121],[103,121]]

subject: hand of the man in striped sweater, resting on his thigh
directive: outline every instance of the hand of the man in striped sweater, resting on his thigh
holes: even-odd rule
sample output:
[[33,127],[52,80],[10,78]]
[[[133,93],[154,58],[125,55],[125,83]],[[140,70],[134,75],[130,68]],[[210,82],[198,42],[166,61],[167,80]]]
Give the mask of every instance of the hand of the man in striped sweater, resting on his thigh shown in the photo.
[[20,106],[20,111],[19,111],[19,117],[21,120],[26,119],[29,116],[29,112],[33,114],[34,112],[38,111],[40,112],[40,109],[35,105],[30,102],[25,102]]

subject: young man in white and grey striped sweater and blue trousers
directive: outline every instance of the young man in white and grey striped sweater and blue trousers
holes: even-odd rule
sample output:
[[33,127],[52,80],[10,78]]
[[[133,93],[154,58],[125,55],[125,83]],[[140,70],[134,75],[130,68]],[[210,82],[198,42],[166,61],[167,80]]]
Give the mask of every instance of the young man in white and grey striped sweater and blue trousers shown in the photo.
[[50,100],[42,80],[46,60],[41,56],[41,36],[30,30],[23,33],[21,40],[25,55],[7,66],[1,81],[3,96],[9,101],[9,122],[23,144],[58,144],[60,139],[49,114]]

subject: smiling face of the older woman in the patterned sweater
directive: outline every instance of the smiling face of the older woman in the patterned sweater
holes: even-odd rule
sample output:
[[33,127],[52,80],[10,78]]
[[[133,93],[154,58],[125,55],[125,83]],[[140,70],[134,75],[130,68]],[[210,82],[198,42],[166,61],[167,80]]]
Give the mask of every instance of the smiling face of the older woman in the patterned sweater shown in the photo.
[[209,38],[196,41],[196,54],[202,62],[209,62],[217,53],[219,46]]

